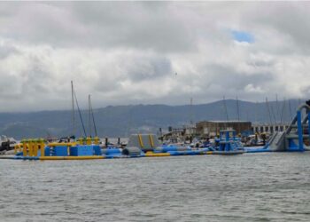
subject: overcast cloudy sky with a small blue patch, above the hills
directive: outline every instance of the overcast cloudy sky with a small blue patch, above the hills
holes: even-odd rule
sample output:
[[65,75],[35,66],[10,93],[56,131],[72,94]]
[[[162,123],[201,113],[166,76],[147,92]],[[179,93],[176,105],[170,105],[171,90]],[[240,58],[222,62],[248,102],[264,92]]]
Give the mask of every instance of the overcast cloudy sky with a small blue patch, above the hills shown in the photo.
[[310,3],[0,3],[0,112],[310,95]]

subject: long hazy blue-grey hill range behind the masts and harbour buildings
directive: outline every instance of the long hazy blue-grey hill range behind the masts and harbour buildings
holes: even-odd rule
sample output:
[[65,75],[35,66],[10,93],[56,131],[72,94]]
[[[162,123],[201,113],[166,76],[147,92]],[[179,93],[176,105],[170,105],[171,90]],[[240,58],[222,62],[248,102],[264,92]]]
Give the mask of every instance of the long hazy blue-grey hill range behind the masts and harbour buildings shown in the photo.
[[[237,120],[236,100],[225,101],[229,120]],[[269,102],[268,109],[265,102],[253,103],[238,100],[239,119],[257,123],[287,123],[291,115],[295,115],[298,100],[291,99],[285,102]],[[290,108],[291,107],[291,108]],[[269,111],[268,111],[269,110]],[[55,136],[68,136],[72,131],[72,115],[70,110],[41,111],[31,113],[1,113],[0,133],[14,137],[39,138]],[[270,115],[269,115],[270,114]],[[89,131],[88,111],[81,112],[86,131]],[[135,105],[135,106],[109,106],[94,110],[97,123],[98,136],[127,137],[136,132],[166,130],[168,126],[180,127],[197,123],[203,120],[226,120],[227,115],[223,100],[208,104],[167,106],[167,105]],[[79,115],[75,114],[77,130],[76,136],[82,135]],[[92,130],[93,131],[93,130]],[[93,134],[93,133],[92,133]]]

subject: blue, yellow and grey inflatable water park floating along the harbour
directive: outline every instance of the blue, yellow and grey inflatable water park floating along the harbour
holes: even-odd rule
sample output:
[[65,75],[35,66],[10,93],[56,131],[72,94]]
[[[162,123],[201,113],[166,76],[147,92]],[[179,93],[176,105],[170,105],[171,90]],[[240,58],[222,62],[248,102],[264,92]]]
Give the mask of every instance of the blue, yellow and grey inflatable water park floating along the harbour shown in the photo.
[[[154,134],[131,135],[126,147],[102,147],[100,139],[88,137],[76,141],[47,142],[43,139],[23,139],[15,145],[14,155],[0,159],[11,160],[95,160],[112,158],[167,157],[179,155],[243,155],[263,152],[309,151],[310,107],[298,107],[290,126],[285,131],[275,132],[263,147],[244,147],[236,131],[220,131],[219,138],[206,147],[186,147],[160,144]],[[307,141],[307,145],[306,145]]]

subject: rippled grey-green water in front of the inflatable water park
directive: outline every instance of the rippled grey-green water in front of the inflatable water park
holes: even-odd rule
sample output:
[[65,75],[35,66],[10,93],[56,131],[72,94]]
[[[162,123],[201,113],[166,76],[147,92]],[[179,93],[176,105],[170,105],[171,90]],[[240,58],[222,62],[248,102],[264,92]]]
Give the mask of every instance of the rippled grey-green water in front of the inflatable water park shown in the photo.
[[0,160],[0,221],[310,221],[310,152]]

